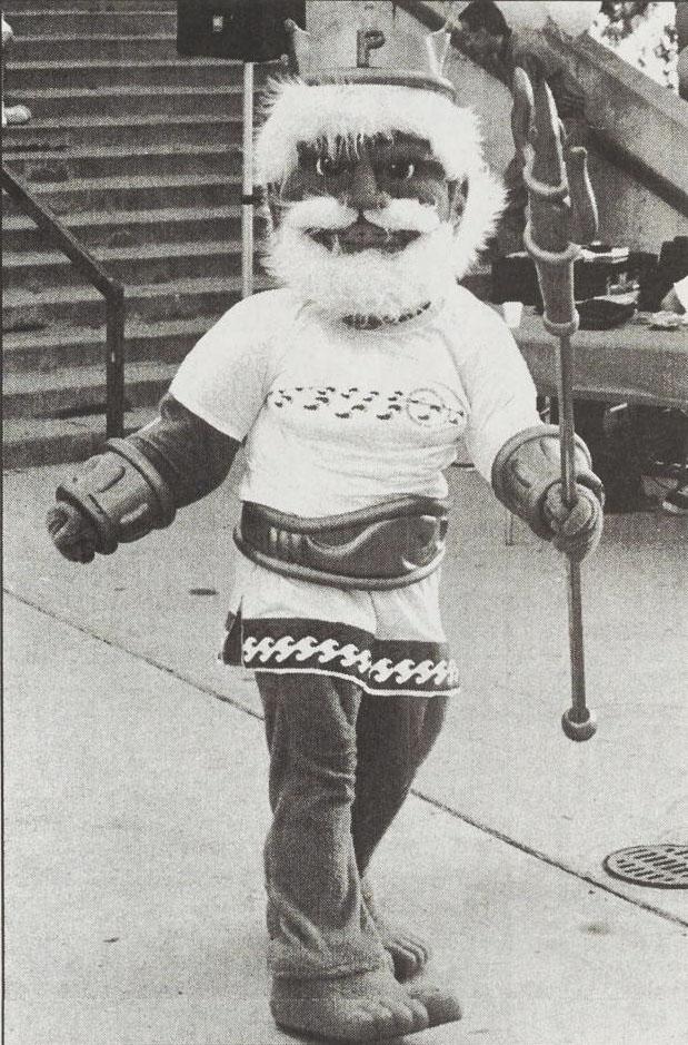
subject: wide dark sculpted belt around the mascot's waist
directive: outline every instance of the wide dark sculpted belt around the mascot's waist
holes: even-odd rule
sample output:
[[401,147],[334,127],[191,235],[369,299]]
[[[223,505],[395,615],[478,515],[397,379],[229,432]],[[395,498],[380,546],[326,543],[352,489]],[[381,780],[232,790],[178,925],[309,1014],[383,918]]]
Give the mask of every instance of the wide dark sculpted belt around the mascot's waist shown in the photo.
[[246,502],[235,542],[252,562],[335,588],[403,588],[445,556],[448,501],[397,497],[372,507],[305,519]]

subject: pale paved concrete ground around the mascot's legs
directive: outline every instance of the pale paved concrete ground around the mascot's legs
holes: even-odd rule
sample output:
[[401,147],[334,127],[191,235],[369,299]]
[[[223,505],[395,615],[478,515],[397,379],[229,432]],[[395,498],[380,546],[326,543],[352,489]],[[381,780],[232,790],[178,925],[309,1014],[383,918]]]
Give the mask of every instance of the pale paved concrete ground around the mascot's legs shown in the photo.
[[[42,530],[63,470],[6,476],[7,1045],[277,1045],[260,849],[267,759],[249,673],[213,662],[227,490],[89,568]],[[688,526],[616,516],[585,568],[590,703],[572,745],[562,562],[453,472],[447,624],[463,697],[380,851],[461,1024],[410,1042],[686,1041],[685,891],[601,868],[688,840]],[[196,593],[195,593],[196,592]]]

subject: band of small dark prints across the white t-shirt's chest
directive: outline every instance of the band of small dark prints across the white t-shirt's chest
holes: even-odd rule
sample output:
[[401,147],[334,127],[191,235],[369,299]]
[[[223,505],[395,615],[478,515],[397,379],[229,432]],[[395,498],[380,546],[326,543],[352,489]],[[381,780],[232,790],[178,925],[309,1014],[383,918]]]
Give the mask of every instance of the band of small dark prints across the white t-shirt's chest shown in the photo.
[[377,421],[407,416],[417,425],[437,427],[445,424],[460,425],[465,417],[458,396],[447,386],[440,385],[412,392],[397,388],[387,395],[378,388],[361,388],[358,385],[347,388],[296,385],[270,392],[267,401],[277,410],[325,411],[340,421],[348,421],[357,414]]

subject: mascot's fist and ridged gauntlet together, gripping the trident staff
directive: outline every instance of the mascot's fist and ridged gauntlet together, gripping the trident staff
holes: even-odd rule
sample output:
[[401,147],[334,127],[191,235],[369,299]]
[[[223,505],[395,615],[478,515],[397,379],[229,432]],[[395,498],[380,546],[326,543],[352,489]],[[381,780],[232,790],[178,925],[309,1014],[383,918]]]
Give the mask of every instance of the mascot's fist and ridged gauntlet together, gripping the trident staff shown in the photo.
[[501,503],[534,533],[580,561],[599,543],[605,492],[578,435],[575,466],[578,500],[569,509],[561,485],[559,430],[536,425],[501,447],[492,465],[492,486]]

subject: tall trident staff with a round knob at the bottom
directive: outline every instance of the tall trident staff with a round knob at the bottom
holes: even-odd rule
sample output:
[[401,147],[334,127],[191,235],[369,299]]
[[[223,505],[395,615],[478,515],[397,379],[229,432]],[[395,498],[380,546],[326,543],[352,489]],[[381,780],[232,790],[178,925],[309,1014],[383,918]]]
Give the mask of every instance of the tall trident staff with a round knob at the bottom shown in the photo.
[[[559,432],[561,483],[568,507],[577,501],[574,434],[574,351],[571,335],[578,329],[574,300],[574,262],[579,244],[597,231],[597,208],[587,174],[584,148],[566,148],[562,127],[551,91],[542,80],[535,89],[528,75],[516,69],[511,130],[525,160],[530,219],[524,244],[534,258],[545,314],[545,328],[559,338]],[[561,726],[571,740],[588,740],[597,724],[586,704],[585,654],[580,563],[568,556],[569,642],[571,654],[571,707]]]

